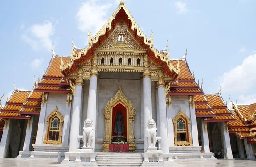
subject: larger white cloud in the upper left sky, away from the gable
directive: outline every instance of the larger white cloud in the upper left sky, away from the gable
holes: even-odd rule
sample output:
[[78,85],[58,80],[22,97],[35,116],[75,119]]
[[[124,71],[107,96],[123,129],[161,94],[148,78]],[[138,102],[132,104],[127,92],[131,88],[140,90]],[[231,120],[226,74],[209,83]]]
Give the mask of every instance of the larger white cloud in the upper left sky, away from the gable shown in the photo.
[[21,35],[21,40],[32,46],[32,49],[51,49],[50,37],[54,34],[54,26],[51,21],[42,24],[34,24]]

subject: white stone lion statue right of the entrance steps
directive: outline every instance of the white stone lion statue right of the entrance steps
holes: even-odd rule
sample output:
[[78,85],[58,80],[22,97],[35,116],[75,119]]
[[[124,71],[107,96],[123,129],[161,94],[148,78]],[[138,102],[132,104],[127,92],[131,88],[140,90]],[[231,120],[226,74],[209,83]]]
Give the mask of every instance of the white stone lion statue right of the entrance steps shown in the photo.
[[147,132],[148,132],[148,148],[156,148],[157,125],[153,119],[148,120]]

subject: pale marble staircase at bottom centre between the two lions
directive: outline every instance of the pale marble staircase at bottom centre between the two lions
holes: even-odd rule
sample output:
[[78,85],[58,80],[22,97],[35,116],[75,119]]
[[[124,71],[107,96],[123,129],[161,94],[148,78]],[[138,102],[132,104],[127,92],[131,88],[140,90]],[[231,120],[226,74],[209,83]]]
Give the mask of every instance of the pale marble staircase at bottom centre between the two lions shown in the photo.
[[141,153],[97,153],[99,167],[140,167],[143,162]]

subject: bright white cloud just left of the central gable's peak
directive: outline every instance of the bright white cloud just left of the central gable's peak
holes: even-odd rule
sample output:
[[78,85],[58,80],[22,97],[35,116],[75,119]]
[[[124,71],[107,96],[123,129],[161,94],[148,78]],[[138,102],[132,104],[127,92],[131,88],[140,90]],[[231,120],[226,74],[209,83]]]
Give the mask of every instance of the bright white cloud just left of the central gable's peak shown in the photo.
[[92,35],[95,35],[99,29],[105,24],[108,19],[108,9],[112,6],[111,3],[98,3],[99,0],[88,0],[82,3],[76,14],[78,20],[78,28],[87,32],[92,30]]

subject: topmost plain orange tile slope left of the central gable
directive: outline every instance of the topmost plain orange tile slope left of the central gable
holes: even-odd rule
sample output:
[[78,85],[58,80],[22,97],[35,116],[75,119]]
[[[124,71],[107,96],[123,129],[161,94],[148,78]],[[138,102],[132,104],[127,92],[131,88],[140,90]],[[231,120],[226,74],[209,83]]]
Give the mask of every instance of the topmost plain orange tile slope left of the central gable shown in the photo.
[[[70,57],[62,57],[63,63],[67,64],[67,62],[70,60]],[[49,66],[46,71],[45,77],[61,77],[61,70],[60,70],[60,64],[61,64],[61,57],[56,56],[52,59],[52,61],[49,63]]]

